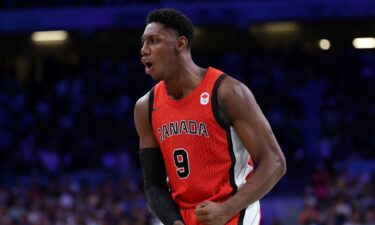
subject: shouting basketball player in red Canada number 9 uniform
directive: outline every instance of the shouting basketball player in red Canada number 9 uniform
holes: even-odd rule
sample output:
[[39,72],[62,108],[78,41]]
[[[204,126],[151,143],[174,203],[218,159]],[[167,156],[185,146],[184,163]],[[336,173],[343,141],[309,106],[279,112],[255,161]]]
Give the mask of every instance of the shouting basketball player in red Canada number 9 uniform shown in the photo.
[[160,82],[134,112],[148,203],[166,225],[258,225],[284,155],[250,90],[196,65],[192,39],[179,11],[149,12],[141,61]]

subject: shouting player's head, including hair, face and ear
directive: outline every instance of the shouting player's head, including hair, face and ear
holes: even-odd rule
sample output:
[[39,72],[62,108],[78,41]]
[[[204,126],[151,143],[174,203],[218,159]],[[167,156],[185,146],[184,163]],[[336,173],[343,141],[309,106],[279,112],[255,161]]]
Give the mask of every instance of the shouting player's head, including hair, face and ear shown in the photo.
[[150,11],[141,49],[146,73],[161,79],[158,76],[176,69],[179,60],[190,57],[193,37],[194,26],[181,12],[168,8]]

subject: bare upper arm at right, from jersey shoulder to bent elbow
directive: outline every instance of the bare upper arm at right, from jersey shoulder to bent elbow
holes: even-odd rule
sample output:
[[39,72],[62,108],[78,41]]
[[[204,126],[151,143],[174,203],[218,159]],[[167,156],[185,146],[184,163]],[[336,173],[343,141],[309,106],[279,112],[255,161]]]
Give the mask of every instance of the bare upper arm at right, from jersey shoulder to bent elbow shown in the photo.
[[219,104],[255,162],[265,155],[281,153],[266,117],[244,84],[229,78],[219,88],[218,96]]

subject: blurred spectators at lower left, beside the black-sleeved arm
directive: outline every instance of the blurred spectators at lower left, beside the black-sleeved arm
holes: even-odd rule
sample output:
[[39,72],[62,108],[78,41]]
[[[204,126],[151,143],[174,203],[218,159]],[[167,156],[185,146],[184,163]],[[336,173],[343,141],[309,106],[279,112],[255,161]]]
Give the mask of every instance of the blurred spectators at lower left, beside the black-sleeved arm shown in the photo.
[[131,180],[103,178],[91,184],[73,177],[50,177],[41,184],[0,186],[1,225],[153,224],[143,190]]

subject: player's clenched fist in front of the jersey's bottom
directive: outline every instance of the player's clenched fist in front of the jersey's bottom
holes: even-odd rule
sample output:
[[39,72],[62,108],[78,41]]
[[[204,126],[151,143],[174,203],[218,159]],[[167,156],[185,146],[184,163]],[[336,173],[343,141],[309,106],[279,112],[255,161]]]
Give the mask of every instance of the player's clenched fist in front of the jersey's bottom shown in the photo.
[[230,219],[227,209],[216,202],[203,202],[195,207],[195,215],[203,225],[225,225]]

